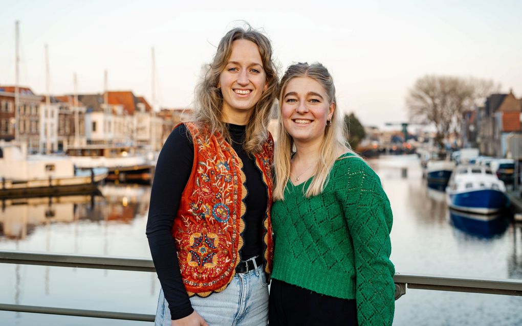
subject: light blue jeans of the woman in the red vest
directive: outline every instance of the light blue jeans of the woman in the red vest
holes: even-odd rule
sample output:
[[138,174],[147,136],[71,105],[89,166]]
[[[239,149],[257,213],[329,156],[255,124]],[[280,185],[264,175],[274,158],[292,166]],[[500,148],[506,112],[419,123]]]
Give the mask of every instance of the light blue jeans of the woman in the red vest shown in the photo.
[[[236,273],[221,292],[206,298],[191,297],[194,310],[209,326],[266,326],[268,284],[263,266],[248,273]],[[171,326],[169,304],[160,291],[155,326]]]

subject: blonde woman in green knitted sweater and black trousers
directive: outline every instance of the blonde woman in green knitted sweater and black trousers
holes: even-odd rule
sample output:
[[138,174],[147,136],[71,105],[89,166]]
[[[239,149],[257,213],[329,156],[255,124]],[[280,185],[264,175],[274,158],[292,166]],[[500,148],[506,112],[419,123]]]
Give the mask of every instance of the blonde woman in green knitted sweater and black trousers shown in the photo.
[[392,324],[392,210],[343,138],[328,70],[288,67],[279,108],[270,326]]

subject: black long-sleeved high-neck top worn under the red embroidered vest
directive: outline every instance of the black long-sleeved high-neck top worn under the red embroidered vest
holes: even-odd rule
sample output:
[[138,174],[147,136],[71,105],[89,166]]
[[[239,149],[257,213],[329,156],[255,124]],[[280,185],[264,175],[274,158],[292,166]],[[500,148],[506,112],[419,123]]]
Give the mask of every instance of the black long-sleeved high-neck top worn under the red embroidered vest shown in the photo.
[[[228,125],[232,148],[243,162],[247,196],[244,215],[243,248],[241,259],[247,260],[263,254],[262,221],[268,204],[266,185],[253,155],[243,149],[245,126]],[[192,136],[185,125],[172,130],[163,144],[150,195],[147,238],[158,279],[169,303],[172,319],[190,315],[194,309],[183,285],[172,226],[180,206],[181,195],[191,175],[194,161]]]

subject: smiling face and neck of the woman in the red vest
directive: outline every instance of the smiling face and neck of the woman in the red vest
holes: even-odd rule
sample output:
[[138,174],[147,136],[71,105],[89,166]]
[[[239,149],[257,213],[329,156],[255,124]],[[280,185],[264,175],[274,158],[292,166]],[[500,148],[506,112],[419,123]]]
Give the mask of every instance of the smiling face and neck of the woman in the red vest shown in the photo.
[[248,40],[234,41],[232,53],[218,83],[223,94],[223,121],[247,124],[267,85],[257,45]]

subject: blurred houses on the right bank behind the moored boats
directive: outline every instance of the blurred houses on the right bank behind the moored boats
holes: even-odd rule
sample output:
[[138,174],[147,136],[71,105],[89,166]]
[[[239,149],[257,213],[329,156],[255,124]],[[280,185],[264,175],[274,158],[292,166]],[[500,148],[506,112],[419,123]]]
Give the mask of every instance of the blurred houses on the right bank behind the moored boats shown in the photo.
[[482,155],[513,157],[509,139],[522,137],[522,99],[513,90],[491,94],[484,105],[464,113],[463,147],[478,148]]

